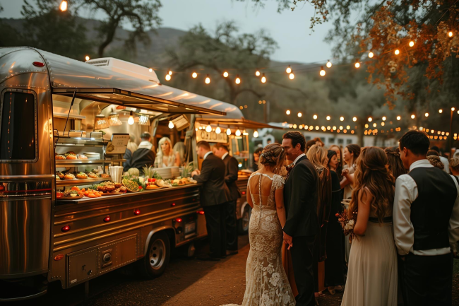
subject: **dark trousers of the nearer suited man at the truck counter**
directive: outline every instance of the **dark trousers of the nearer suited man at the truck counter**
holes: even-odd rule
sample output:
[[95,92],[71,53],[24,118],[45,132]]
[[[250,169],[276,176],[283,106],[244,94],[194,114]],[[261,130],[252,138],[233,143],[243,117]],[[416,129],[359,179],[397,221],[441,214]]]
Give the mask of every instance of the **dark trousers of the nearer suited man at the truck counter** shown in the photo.
[[205,223],[210,239],[210,257],[226,255],[226,206],[218,204],[204,206]]

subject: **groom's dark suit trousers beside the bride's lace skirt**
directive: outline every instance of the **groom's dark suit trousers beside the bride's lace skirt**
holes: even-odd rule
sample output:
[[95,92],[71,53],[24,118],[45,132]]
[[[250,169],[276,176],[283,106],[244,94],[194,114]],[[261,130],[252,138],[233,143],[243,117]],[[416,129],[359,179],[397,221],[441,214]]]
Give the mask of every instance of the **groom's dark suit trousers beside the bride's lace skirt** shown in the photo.
[[316,236],[293,237],[292,264],[297,283],[297,306],[314,306],[314,241]]

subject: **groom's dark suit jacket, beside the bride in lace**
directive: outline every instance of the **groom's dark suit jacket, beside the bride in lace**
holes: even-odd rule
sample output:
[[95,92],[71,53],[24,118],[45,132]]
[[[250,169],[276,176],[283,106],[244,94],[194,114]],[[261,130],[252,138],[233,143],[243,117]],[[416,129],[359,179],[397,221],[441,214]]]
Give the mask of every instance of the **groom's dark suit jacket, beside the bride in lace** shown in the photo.
[[287,213],[285,233],[292,237],[319,233],[317,190],[316,168],[306,156],[303,156],[290,170],[290,175],[285,182],[284,204]]

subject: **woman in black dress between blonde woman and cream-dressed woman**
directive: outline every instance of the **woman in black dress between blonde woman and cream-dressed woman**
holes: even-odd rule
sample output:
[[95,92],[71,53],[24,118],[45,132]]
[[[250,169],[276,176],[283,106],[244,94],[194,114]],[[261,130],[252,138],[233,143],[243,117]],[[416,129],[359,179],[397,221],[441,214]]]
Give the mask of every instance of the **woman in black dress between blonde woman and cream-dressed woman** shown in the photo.
[[328,169],[331,173],[332,199],[326,240],[325,286],[331,294],[343,290],[342,286],[345,284],[342,266],[345,237],[341,225],[338,223],[338,217],[335,216],[336,213],[342,212],[340,180],[335,172],[337,166],[336,152],[329,150]]

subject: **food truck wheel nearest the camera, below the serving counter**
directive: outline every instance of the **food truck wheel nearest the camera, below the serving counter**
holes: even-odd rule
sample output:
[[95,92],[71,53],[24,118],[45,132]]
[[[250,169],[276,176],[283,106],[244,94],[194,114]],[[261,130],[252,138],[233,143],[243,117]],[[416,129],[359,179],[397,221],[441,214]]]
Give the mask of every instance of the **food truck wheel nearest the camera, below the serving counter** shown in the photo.
[[156,278],[164,273],[170,257],[170,242],[166,233],[155,233],[148,245],[147,254],[141,259],[139,271],[145,278]]

